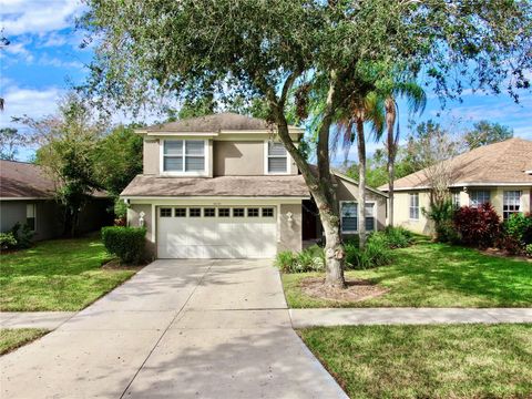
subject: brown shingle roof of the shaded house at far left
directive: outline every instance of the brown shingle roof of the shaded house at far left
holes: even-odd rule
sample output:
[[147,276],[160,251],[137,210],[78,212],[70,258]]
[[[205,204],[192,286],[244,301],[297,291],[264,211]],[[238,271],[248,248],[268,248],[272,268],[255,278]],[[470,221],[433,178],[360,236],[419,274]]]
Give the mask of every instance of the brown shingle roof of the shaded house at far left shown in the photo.
[[38,165],[0,161],[0,198],[52,198],[54,188]]

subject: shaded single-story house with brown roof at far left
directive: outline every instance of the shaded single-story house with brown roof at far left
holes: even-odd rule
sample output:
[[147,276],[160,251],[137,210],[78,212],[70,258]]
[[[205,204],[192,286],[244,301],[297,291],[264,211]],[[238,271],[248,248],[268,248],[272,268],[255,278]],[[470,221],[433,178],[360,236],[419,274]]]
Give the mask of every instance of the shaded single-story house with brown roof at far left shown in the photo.
[[[0,161],[0,226],[9,232],[17,223],[28,225],[34,239],[63,234],[63,209],[54,200],[54,183],[34,164]],[[112,222],[110,201],[94,196],[80,215],[79,231],[91,232]]]

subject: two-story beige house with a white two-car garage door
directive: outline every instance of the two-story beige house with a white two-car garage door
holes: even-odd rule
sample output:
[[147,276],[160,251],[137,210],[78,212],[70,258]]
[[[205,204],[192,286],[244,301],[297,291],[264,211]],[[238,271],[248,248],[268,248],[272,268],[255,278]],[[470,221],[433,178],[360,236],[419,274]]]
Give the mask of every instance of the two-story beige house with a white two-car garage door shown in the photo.
[[[137,133],[144,171],[122,192],[127,223],[147,228],[160,258],[269,258],[320,238],[317,209],[295,162],[259,119],[234,113]],[[303,130],[289,126],[297,143]],[[346,234],[358,232],[357,183],[337,174]],[[386,219],[386,194],[368,190],[368,226]]]

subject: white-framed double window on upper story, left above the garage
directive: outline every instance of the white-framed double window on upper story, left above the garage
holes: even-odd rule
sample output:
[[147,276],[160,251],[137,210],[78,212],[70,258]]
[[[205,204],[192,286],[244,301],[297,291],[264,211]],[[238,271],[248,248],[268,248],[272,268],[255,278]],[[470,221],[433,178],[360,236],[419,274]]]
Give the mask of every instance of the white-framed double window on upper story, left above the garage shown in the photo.
[[164,140],[162,171],[165,173],[204,174],[205,140]]

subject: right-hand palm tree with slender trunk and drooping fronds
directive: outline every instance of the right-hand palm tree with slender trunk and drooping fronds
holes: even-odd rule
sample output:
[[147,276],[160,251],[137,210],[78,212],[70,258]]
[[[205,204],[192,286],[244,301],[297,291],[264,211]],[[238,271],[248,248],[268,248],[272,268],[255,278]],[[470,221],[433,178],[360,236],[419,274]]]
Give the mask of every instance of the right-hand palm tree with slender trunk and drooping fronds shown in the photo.
[[387,147],[388,147],[388,195],[389,211],[388,224],[393,226],[393,180],[396,178],[396,157],[399,147],[399,106],[396,99],[403,96],[407,99],[408,108],[411,113],[422,113],[427,105],[427,95],[423,89],[415,81],[393,82],[391,90],[385,93],[385,113],[387,129]]

